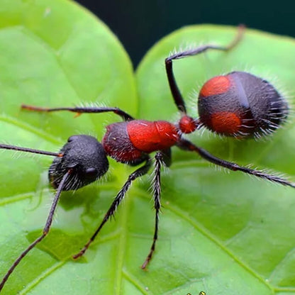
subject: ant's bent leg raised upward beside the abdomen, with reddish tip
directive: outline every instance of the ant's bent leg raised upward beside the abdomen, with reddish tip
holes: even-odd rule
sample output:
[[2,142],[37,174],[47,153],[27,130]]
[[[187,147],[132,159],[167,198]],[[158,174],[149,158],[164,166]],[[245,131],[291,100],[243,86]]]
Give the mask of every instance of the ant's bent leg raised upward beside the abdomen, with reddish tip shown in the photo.
[[235,47],[235,45],[237,45],[240,42],[240,40],[243,38],[244,31],[245,31],[245,26],[243,25],[238,26],[238,33],[235,36],[235,39],[228,46],[202,45],[199,48],[193,48],[190,50],[174,53],[165,59],[165,67],[166,67],[169,87],[174,99],[174,103],[176,104],[178,110],[181,113],[187,113],[187,108],[184,104],[184,99],[182,98],[182,94],[180,93],[180,90],[177,87],[177,83],[175,81],[175,77],[174,77],[173,69],[172,69],[172,60],[179,60],[180,58],[183,58],[183,57],[199,55],[199,53],[202,53],[211,49],[228,51],[232,49],[233,47]]

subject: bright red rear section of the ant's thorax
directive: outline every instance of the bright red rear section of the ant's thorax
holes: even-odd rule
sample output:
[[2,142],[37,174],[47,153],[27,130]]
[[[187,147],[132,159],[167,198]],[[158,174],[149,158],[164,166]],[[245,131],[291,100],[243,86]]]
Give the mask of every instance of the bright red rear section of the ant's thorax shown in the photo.
[[172,147],[179,139],[177,128],[167,121],[130,121],[127,132],[130,142],[142,152],[165,150]]

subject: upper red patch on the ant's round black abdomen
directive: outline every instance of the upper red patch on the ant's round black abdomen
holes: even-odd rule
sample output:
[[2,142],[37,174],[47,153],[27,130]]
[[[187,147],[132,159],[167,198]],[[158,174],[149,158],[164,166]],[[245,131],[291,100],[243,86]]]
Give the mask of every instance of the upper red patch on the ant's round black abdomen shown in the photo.
[[230,89],[230,78],[227,76],[217,76],[208,80],[201,88],[200,95],[203,97],[223,94]]

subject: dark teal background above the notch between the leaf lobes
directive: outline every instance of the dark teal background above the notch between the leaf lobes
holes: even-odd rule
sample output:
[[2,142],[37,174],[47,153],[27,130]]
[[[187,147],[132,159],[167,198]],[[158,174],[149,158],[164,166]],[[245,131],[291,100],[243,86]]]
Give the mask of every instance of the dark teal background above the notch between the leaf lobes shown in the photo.
[[217,23],[295,35],[295,2],[261,0],[79,0],[111,28],[128,51],[133,65],[145,52],[182,26]]

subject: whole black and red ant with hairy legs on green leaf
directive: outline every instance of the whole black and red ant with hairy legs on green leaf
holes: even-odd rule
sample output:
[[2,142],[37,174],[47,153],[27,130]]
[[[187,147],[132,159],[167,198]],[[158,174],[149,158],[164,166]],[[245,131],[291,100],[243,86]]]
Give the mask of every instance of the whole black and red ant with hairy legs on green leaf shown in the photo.
[[[121,204],[133,181],[147,174],[152,167],[152,162],[154,162],[152,199],[155,207],[155,229],[150,251],[141,266],[142,269],[146,269],[155,252],[158,237],[161,208],[161,167],[163,165],[167,167],[171,165],[171,147],[173,146],[189,152],[196,152],[204,160],[215,165],[295,188],[294,183],[282,177],[268,174],[261,170],[243,167],[235,162],[228,162],[211,155],[210,152],[194,145],[194,143],[191,143],[183,136],[187,133],[193,133],[201,127],[205,127],[219,135],[236,138],[260,138],[262,135],[273,133],[274,130],[277,130],[286,121],[289,107],[284,97],[274,89],[272,84],[247,72],[230,72],[229,74],[209,79],[199,93],[199,118],[192,118],[187,114],[184,99],[174,78],[172,62],[184,57],[199,55],[208,50],[228,52],[240,42],[244,31],[245,28],[239,26],[238,34],[233,42],[227,46],[203,45],[199,48],[174,53],[165,59],[169,87],[174,104],[181,115],[180,120],[175,124],[168,121],[138,120],[120,108],[94,106],[42,108],[28,105],[21,106],[21,108],[28,111],[71,111],[78,115],[82,113],[112,112],[120,116],[123,121],[106,126],[106,133],[101,143],[89,135],[73,135],[67,140],[60,152],[47,152],[14,145],[0,145],[1,149],[32,152],[55,157],[49,168],[48,177],[50,184],[56,190],[42,235],[34,240],[13,262],[0,283],[0,291],[14,269],[23,260],[23,257],[48,234],[62,191],[77,190],[101,178],[108,170],[107,156],[123,164],[130,166],[141,164],[141,166],[129,175],[127,181],[123,184],[123,187],[108,208],[99,227],[82,250],[73,256],[74,259],[84,255],[84,252],[94,241],[104,224],[116,213],[116,208]],[[150,157],[152,152],[155,152],[153,159]]]

